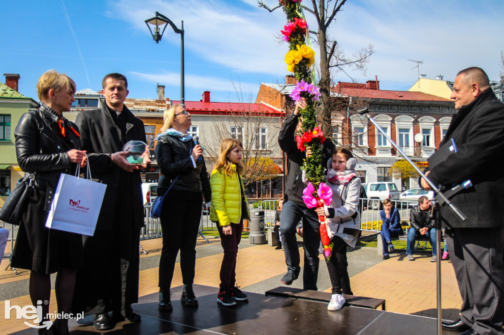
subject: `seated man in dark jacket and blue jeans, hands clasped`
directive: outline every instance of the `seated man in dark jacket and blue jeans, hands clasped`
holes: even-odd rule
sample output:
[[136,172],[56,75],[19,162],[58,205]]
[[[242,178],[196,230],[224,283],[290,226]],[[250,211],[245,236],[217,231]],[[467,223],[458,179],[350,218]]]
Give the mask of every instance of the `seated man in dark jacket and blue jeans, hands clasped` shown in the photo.
[[430,262],[436,261],[436,229],[434,228],[434,220],[430,217],[430,201],[426,196],[418,198],[418,206],[415,206],[410,211],[411,228],[408,230],[408,245],[406,247],[406,255],[408,261],[414,261],[413,248],[417,236],[423,235],[430,238],[432,244],[432,258]]

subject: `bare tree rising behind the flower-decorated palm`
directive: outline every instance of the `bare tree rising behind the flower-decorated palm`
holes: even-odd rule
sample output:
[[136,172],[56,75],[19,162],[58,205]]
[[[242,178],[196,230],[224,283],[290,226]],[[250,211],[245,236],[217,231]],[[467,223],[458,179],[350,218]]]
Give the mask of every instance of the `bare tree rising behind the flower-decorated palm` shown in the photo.
[[[319,45],[320,53],[320,78],[318,87],[321,92],[321,113],[322,130],[324,133],[329,133],[331,127],[331,86],[334,81],[331,79],[331,73],[343,71],[345,68],[353,68],[364,71],[366,64],[369,62],[370,56],[374,53],[371,44],[362,48],[351,56],[338,45],[336,39],[328,34],[328,29],[333,21],[336,21],[336,15],[342,10],[343,5],[347,0],[311,0],[310,7],[299,5],[303,10],[313,15],[317,20],[317,31],[310,31],[317,36],[314,42]],[[281,8],[279,5],[270,9],[263,0],[258,1],[259,7],[268,10],[270,13]],[[289,13],[287,13],[289,17]]]

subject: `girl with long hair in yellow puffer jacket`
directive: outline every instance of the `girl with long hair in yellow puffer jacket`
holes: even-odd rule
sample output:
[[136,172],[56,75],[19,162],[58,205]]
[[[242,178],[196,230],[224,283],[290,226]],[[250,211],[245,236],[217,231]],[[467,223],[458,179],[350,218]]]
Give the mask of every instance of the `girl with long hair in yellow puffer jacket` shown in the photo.
[[224,249],[220,270],[220,289],[217,302],[224,306],[236,305],[236,300],[248,297],[236,286],[236,255],[243,231],[243,220],[248,220],[248,202],[241,176],[241,142],[234,138],[222,140],[215,170],[212,171],[212,205],[210,219],[217,229]]

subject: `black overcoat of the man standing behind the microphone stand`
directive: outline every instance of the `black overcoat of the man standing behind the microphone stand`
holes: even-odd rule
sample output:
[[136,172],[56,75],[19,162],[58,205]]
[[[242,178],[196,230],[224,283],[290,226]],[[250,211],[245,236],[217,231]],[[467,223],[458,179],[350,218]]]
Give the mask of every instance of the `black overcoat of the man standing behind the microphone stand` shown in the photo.
[[445,139],[453,139],[457,152],[430,170],[437,186],[451,188],[466,180],[473,187],[451,199],[467,217],[461,222],[447,207],[441,208],[443,226],[454,228],[504,227],[504,104],[491,89],[455,114]]

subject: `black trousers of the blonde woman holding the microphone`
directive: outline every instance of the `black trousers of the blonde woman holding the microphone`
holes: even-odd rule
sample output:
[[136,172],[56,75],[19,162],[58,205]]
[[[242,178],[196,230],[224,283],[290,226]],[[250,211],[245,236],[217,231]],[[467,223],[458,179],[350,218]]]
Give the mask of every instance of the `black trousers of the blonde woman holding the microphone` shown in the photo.
[[193,284],[196,267],[196,238],[201,220],[201,202],[165,199],[161,211],[163,249],[159,259],[159,288],[169,290],[178,250],[183,284]]

